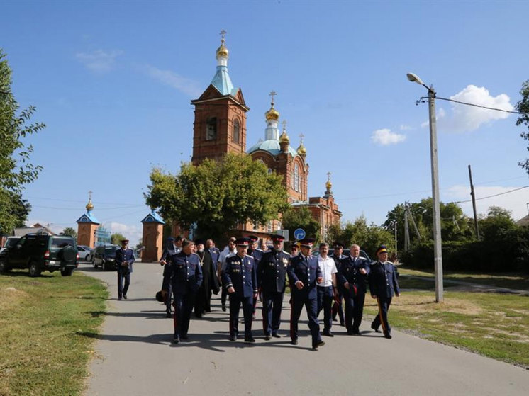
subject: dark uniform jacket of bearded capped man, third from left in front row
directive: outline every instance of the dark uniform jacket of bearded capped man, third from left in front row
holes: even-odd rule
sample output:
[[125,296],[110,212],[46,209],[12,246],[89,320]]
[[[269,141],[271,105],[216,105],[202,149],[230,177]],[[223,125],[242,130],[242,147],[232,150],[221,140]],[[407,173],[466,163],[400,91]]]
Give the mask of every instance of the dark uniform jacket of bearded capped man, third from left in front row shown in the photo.
[[257,281],[264,292],[284,293],[289,259],[289,254],[282,250],[272,249],[262,255],[257,265]]

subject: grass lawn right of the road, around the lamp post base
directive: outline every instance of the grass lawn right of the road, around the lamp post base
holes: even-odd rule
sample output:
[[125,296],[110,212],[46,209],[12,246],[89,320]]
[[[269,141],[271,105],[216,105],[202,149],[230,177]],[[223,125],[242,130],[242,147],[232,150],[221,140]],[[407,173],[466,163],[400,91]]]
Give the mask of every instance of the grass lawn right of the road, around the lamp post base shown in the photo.
[[[403,268],[399,268],[399,272],[432,277],[432,281],[401,276],[399,284],[407,290],[391,303],[391,327],[529,368],[528,296],[445,290],[445,301],[436,303],[433,274]],[[446,278],[500,287],[508,284],[517,289],[522,289],[527,281],[527,276],[518,274],[452,273]],[[369,295],[364,310],[371,315],[377,314],[377,304]]]

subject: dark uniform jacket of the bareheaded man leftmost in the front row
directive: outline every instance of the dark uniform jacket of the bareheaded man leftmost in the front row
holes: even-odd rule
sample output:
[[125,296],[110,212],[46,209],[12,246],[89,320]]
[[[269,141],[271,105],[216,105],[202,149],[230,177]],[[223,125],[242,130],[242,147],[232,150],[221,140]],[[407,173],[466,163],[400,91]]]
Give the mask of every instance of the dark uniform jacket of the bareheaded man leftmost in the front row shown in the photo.
[[196,253],[186,255],[183,251],[171,256],[171,283],[174,294],[195,293],[202,284],[202,268]]

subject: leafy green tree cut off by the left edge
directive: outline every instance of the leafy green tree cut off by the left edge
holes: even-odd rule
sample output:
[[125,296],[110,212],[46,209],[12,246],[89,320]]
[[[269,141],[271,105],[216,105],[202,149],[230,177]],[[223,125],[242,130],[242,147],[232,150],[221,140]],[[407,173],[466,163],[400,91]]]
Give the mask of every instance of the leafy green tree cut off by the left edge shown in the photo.
[[11,68],[0,49],[0,232],[9,233],[23,225],[30,206],[21,193],[27,183],[34,181],[40,166],[30,164],[33,146],[23,139],[45,128],[42,123],[28,124],[35,108],[19,111],[11,91]]

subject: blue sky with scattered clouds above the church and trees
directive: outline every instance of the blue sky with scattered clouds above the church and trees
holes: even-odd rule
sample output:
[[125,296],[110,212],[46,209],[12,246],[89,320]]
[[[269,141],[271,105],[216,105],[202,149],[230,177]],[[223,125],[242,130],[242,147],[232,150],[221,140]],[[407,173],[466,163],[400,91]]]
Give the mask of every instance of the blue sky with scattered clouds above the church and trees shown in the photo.
[[[343,220],[431,195],[426,90],[511,110],[529,79],[527,1],[4,1],[0,47],[13,93],[47,128],[27,142],[43,166],[26,188],[29,224],[77,229],[94,215],[136,242],[152,166],[189,161],[198,98],[225,29],[230,77],[247,113],[247,147],[265,135],[269,92],[291,145],[304,145],[309,196],[327,172]],[[440,197],[527,186],[516,115],[437,101]],[[478,200],[528,213],[529,188]],[[469,203],[462,204],[472,215]]]

